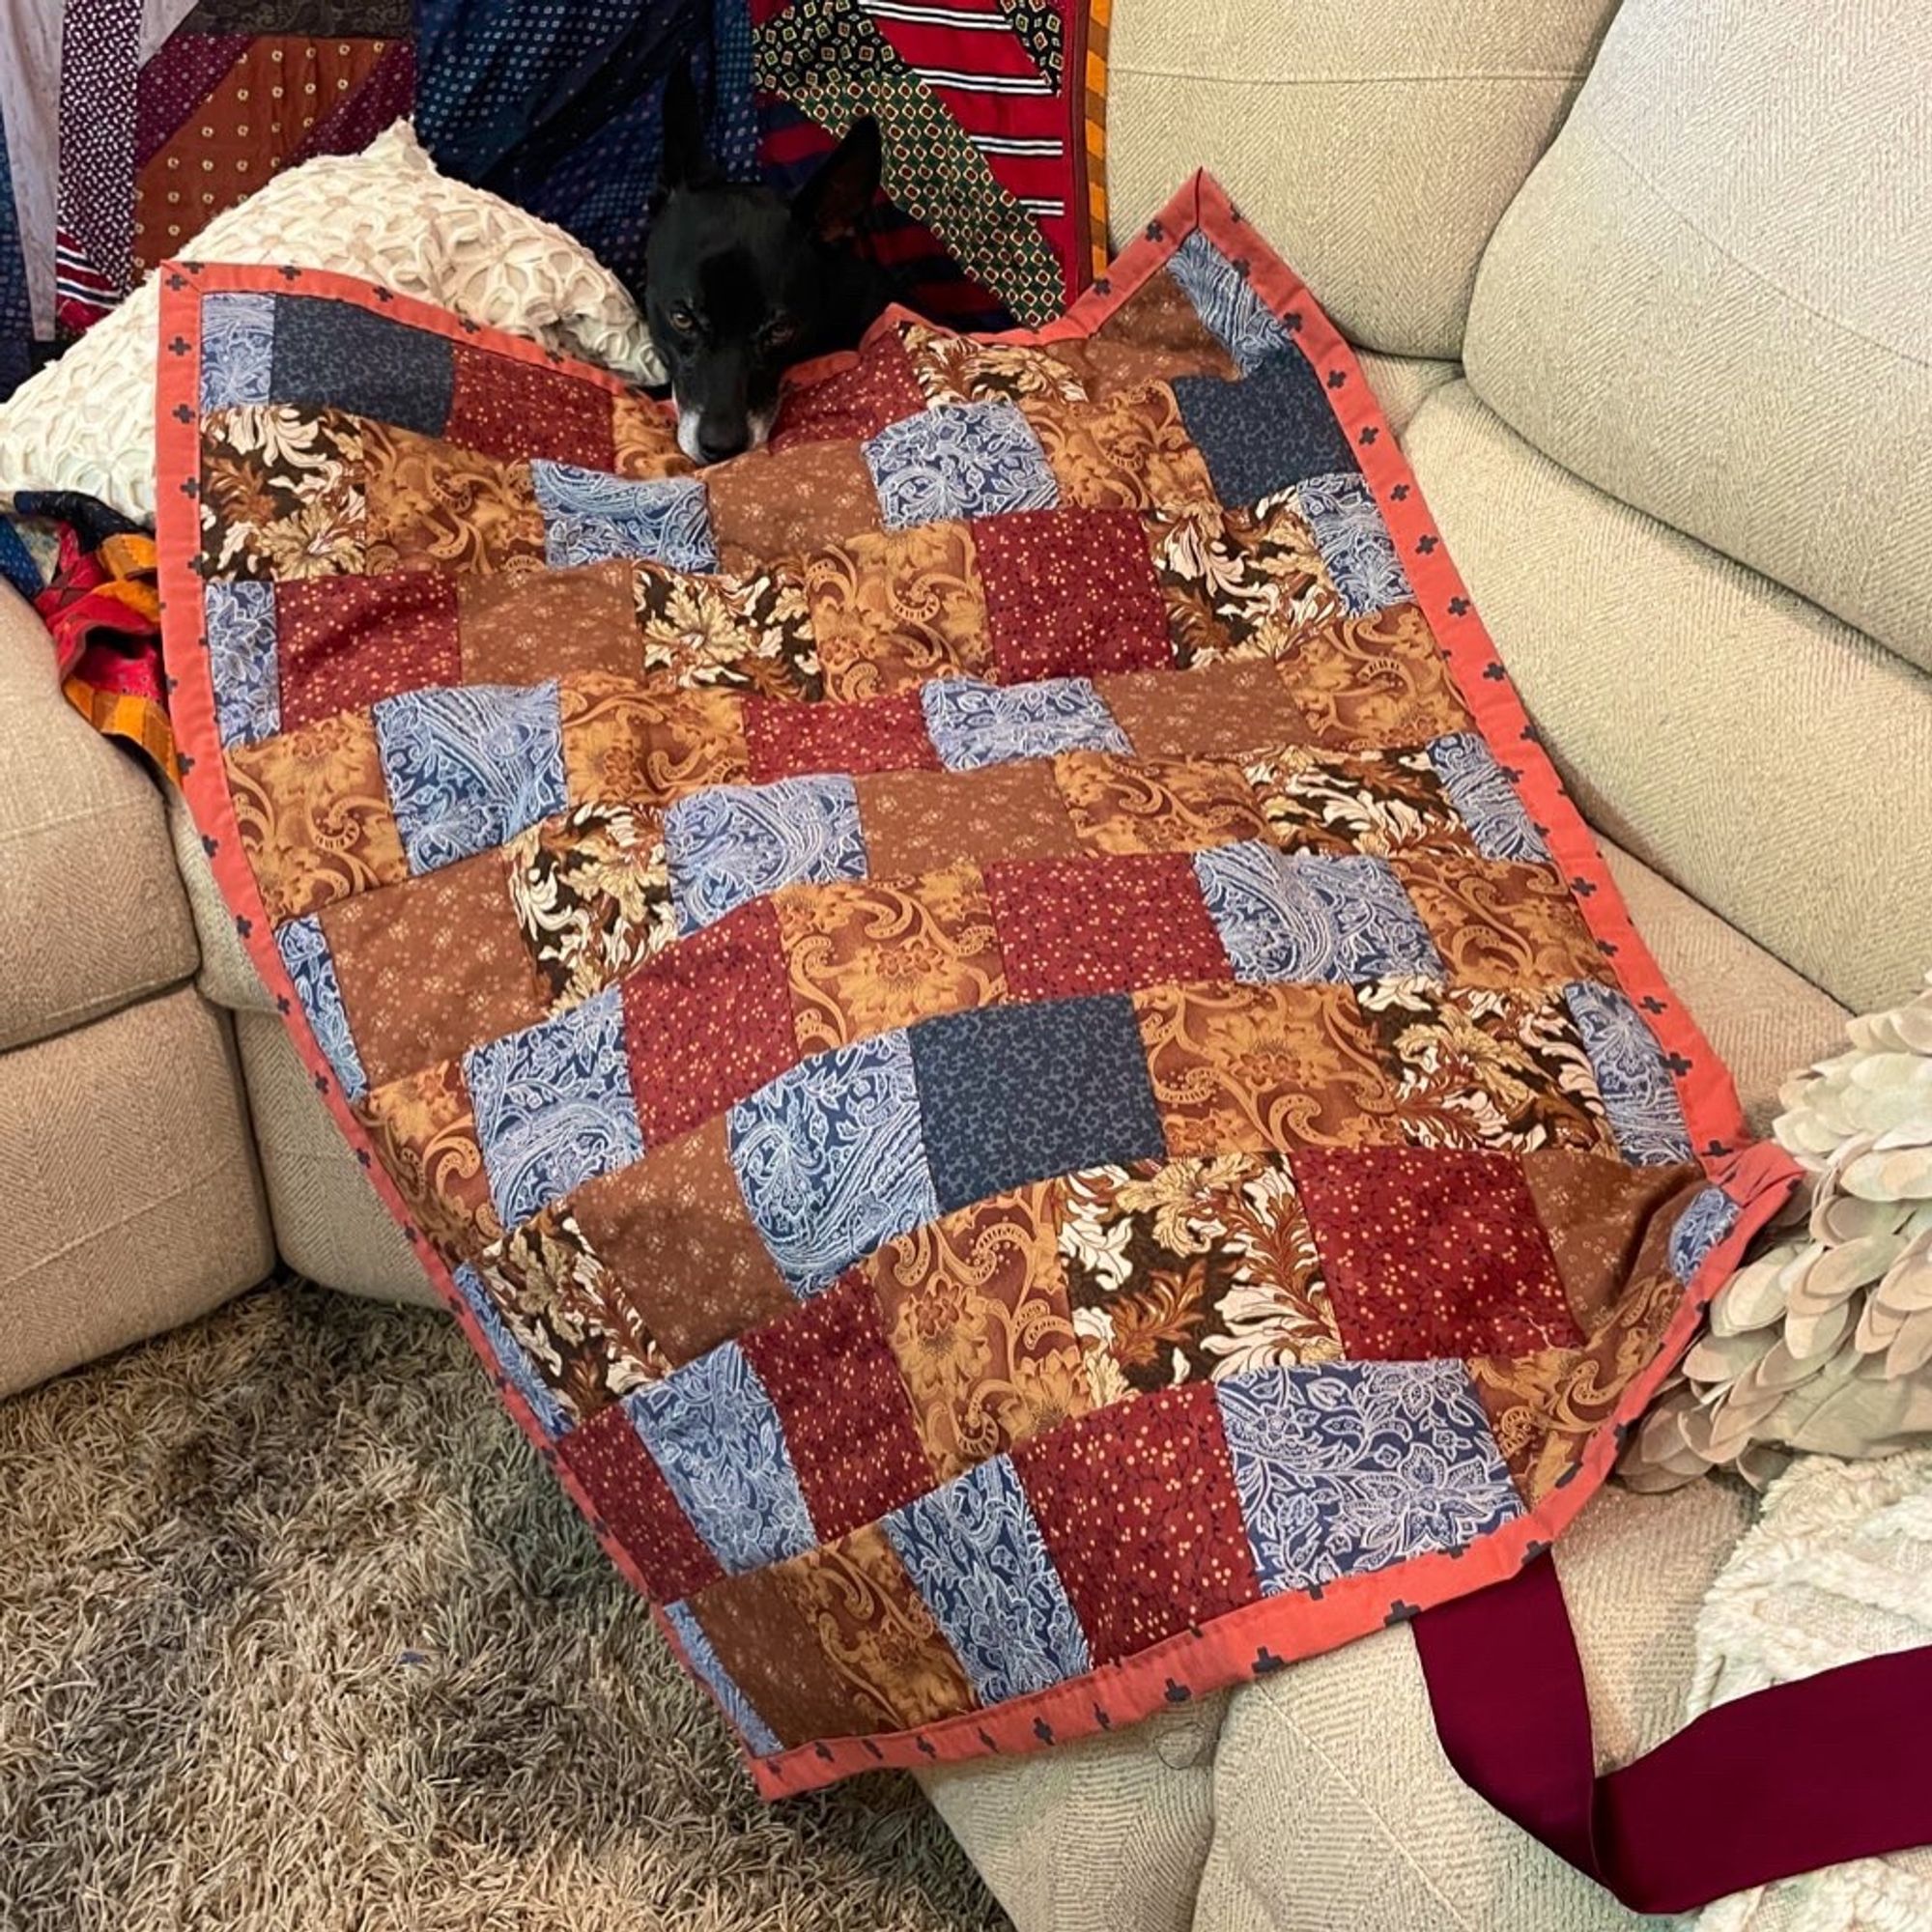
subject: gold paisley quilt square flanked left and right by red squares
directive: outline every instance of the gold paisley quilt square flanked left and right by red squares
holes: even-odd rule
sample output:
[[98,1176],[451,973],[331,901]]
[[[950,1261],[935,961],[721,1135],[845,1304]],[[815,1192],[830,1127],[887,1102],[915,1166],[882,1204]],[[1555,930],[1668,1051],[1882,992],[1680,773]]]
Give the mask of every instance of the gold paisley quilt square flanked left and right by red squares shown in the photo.
[[972,864],[902,881],[786,887],[773,906],[806,1053],[1009,997],[993,908]]

